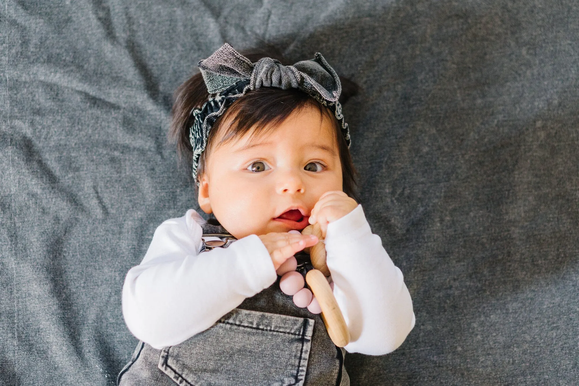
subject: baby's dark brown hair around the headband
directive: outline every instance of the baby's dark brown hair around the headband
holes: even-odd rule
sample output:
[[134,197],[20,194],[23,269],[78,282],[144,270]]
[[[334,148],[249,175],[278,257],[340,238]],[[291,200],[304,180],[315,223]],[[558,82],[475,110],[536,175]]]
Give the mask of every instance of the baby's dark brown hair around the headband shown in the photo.
[[[266,49],[245,50],[240,53],[251,60],[252,63],[262,57],[271,57],[279,60],[284,65],[288,65],[288,61],[272,46],[267,46]],[[340,103],[345,103],[351,96],[357,94],[358,86],[356,83],[349,81],[349,79],[342,77],[340,77],[340,82],[342,83]],[[187,79],[175,90],[174,94],[175,103],[171,110],[173,119],[168,132],[168,139],[171,143],[177,144],[179,161],[185,162],[186,170],[191,180],[193,180],[191,176],[193,151],[189,142],[189,128],[193,124],[193,115],[190,112],[193,108],[200,108],[209,97],[210,94],[207,92],[200,72]],[[197,179],[205,172],[207,155],[210,154],[211,148],[215,145],[217,133],[222,130],[221,123],[228,121],[229,117],[234,119],[228,130],[222,134],[222,142],[239,138],[254,127],[259,128],[259,133],[256,130],[252,135],[265,134],[270,130],[274,130],[292,112],[308,106],[318,108],[321,116],[327,116],[334,123],[335,139],[338,141],[340,163],[342,163],[342,188],[347,195],[360,202],[356,184],[358,173],[352,163],[346,140],[340,132],[338,119],[335,118],[329,108],[298,89],[282,90],[263,87],[251,90],[234,101],[225,111],[225,114],[219,116],[209,132],[206,149],[201,154],[199,166],[197,166]],[[195,187],[197,187],[196,182],[192,181]]]

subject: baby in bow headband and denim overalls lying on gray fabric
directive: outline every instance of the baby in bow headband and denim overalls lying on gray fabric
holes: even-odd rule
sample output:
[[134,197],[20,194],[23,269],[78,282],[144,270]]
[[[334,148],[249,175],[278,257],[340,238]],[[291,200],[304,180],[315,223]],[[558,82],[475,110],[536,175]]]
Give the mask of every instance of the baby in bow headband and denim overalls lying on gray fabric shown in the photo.
[[[349,385],[345,352],[393,351],[415,316],[352,198],[340,79],[319,53],[284,66],[228,44],[199,67],[177,90],[172,130],[190,154],[199,207],[215,219],[189,209],[164,221],[128,272],[123,316],[141,341],[118,384]],[[318,242],[300,234],[309,224],[325,235],[344,348],[303,281],[281,281],[301,296],[280,290],[277,274],[295,277],[294,255]],[[216,229],[234,241],[205,250]]]

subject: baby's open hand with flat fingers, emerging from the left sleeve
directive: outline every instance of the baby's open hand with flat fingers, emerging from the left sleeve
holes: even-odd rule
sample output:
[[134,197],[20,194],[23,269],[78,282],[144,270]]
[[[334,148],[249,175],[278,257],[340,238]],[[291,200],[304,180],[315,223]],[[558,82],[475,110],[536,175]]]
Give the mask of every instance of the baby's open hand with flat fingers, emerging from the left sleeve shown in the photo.
[[259,236],[259,238],[272,257],[273,267],[276,271],[281,264],[285,263],[285,260],[294,256],[294,253],[305,247],[316,245],[318,242],[318,238],[314,235],[305,236],[287,232],[270,232]]

